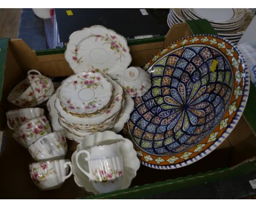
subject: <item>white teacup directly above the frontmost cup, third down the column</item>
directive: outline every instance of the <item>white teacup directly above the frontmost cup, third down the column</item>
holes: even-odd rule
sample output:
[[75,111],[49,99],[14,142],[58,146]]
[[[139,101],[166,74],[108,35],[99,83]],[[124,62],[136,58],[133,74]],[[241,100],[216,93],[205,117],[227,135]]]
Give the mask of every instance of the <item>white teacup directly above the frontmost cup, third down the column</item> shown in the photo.
[[67,141],[62,132],[51,132],[28,146],[28,152],[36,161],[63,159],[67,153]]

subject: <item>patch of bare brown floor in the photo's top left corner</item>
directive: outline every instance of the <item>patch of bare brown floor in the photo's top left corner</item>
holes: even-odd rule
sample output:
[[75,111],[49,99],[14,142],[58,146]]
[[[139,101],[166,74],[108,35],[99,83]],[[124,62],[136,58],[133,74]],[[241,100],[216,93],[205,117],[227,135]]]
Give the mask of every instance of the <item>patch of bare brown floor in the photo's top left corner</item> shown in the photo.
[[0,9],[0,38],[16,39],[21,9]]

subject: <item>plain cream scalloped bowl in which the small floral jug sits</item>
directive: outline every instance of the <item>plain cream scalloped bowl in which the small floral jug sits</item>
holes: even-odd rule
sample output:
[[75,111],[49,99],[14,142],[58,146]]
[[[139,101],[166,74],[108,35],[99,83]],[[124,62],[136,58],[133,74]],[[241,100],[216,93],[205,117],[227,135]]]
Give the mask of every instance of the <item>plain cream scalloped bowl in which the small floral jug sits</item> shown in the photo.
[[[74,181],[79,187],[85,189],[88,192],[99,194],[99,192],[94,187],[95,182],[89,181],[89,178],[77,167],[77,163],[75,162],[75,156],[77,155],[77,152],[82,149],[90,151],[92,146],[110,144],[117,142],[117,140],[122,142],[120,146],[120,154],[123,157],[124,164],[124,175],[120,189],[128,188],[131,185],[131,180],[135,178],[136,172],[140,165],[136,156],[136,151],[133,149],[133,145],[129,139],[123,138],[120,134],[116,134],[112,131],[104,131],[87,136],[86,139],[84,139],[83,142],[77,146],[77,150],[75,150],[72,155],[71,169],[72,173],[74,174]],[[80,164],[83,164],[83,168],[88,170],[88,163],[83,161]],[[104,184],[102,184],[102,186],[104,186]],[[106,183],[105,186],[108,186],[108,183]]]

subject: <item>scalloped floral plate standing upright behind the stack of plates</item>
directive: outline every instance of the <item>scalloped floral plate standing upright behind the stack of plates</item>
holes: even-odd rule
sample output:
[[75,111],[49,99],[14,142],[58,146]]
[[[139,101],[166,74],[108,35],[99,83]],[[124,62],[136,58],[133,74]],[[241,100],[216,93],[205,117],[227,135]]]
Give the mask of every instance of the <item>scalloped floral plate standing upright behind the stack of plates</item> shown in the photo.
[[65,59],[75,74],[97,69],[113,79],[118,79],[132,60],[126,39],[99,25],[72,33]]

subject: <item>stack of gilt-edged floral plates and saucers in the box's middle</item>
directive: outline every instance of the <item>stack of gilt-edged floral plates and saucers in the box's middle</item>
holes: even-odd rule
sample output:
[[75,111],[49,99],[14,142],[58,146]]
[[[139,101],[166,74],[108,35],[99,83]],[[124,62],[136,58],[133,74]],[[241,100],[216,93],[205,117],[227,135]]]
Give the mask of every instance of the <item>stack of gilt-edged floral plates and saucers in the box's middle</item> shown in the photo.
[[53,129],[81,142],[95,132],[123,129],[133,100],[108,75],[92,70],[65,79],[50,97],[47,108]]

